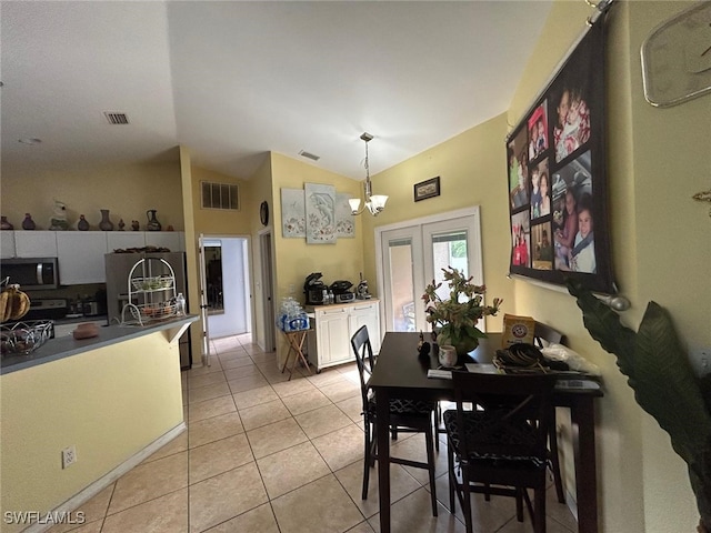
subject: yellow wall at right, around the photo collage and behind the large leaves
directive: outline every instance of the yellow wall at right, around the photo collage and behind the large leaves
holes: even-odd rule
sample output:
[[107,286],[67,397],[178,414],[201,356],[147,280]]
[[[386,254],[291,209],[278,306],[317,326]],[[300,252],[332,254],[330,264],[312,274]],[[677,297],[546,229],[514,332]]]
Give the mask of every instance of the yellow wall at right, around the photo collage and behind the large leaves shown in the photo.
[[[637,328],[648,300],[655,300],[670,310],[690,346],[708,346],[711,224],[708,209],[690,197],[709,185],[711,105],[704,97],[652,108],[644,101],[639,60],[649,32],[688,6],[619,2],[612,9],[605,56],[609,205],[615,276],[633,303],[623,321]],[[532,103],[590,13],[583,2],[554,3],[510,107],[510,123]],[[603,371],[605,398],[598,403],[603,531],[693,531],[699,513],[684,463],[634,402],[614,356],[590,339],[573,299],[524,281],[514,285],[517,313],[565,332],[572,348]]]

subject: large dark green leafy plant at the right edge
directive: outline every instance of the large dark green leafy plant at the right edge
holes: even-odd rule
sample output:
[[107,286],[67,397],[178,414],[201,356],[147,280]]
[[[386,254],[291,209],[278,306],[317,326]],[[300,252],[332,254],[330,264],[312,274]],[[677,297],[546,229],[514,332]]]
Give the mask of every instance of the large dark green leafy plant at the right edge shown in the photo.
[[650,302],[634,331],[579,281],[568,280],[585,329],[617,355],[637,403],[669,433],[674,451],[687,462],[701,519],[699,532],[711,532],[711,374],[698,379],[681,346],[669,313]]

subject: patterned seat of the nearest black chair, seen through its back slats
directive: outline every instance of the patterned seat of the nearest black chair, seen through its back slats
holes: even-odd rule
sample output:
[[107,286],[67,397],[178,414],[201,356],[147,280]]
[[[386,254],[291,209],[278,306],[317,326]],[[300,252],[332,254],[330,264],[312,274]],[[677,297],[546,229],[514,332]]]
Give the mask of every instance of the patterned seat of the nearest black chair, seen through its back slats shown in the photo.
[[[475,435],[481,433],[481,429],[491,425],[491,421],[495,421],[500,416],[497,410],[488,411],[469,411],[464,413],[464,434]],[[454,450],[461,450],[460,445],[462,439],[462,432],[457,420],[457,410],[448,410],[443,413],[444,428]],[[533,444],[535,442],[535,429],[528,424],[519,424],[519,431],[512,435],[510,431],[505,434],[492,434],[491,444],[515,444],[517,446],[525,446],[527,444]],[[481,453],[471,452],[467,457],[460,457],[467,460],[473,464],[487,464],[490,466],[499,466],[507,469],[521,469],[521,470],[542,470],[545,469],[548,463],[541,461],[534,455],[507,455],[505,453]]]

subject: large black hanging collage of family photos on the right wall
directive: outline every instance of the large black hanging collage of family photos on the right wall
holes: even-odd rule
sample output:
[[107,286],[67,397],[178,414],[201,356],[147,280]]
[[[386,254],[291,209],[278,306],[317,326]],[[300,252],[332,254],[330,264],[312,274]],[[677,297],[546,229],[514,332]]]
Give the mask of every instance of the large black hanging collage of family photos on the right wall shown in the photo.
[[614,292],[604,131],[600,17],[507,138],[512,274]]

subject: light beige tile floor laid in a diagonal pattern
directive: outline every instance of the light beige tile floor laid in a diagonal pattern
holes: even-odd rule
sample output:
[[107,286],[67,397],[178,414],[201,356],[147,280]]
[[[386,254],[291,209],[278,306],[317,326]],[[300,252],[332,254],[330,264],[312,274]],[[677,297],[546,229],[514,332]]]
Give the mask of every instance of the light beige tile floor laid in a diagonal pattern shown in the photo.
[[[378,475],[360,497],[363,430],[358,370],[344,365],[293,379],[249,335],[212,341],[211,366],[183,372],[188,431],[81,505],[76,533],[365,533],[379,531]],[[393,454],[425,460],[421,434],[401,434]],[[392,465],[393,532],[463,532],[449,512],[447,447],[437,464],[439,517],[427,472]],[[577,523],[548,491],[548,532]],[[474,531],[531,532],[511,499],[472,499]],[[78,510],[78,511],[79,511]],[[52,533],[68,531],[54,526]]]

